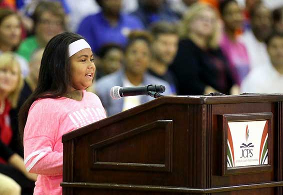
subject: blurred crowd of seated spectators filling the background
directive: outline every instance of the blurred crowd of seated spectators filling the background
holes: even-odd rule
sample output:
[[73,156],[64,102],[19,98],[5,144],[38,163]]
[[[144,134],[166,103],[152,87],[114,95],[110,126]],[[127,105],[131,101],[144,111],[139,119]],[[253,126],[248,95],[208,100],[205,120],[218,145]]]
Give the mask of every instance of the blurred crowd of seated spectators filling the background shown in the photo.
[[45,45],[66,31],[92,48],[87,90],[108,116],[152,100],[112,100],[114,85],[162,84],[166,95],[283,93],[281,0],[2,0],[0,194],[32,194],[17,113],[36,87]]

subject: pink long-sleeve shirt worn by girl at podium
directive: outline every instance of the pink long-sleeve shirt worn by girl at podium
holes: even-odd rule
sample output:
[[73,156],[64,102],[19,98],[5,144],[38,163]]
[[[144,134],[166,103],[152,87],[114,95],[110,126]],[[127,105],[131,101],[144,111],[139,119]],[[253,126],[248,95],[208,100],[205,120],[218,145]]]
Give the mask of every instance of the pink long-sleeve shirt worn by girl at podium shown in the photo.
[[34,194],[62,194],[62,135],[105,118],[100,99],[83,91],[81,101],[45,98],[33,102],[24,127],[24,163],[38,174]]

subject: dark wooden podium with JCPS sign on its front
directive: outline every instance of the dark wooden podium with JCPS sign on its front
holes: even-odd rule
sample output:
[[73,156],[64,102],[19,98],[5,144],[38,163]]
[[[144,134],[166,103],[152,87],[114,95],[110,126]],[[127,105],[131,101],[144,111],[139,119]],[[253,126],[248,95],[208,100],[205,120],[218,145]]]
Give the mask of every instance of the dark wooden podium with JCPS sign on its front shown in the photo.
[[283,95],[161,97],[62,142],[63,194],[283,194]]

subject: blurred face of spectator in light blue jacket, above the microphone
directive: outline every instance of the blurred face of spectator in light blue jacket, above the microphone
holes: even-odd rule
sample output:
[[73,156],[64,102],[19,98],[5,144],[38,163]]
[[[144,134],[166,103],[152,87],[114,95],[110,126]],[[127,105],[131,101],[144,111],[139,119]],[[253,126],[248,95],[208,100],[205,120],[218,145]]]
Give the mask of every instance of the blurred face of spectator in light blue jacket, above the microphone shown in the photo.
[[126,71],[134,75],[143,75],[150,61],[149,47],[143,40],[134,41],[125,53]]

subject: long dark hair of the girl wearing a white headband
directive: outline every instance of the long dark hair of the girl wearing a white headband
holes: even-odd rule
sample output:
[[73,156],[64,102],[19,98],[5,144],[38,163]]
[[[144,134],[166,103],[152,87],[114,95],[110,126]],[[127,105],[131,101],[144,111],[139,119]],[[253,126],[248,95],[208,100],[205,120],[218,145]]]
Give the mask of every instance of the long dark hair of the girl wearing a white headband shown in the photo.
[[84,38],[75,33],[61,33],[47,43],[40,63],[37,87],[18,113],[21,138],[31,104],[39,98],[59,98],[71,86],[68,45],[79,39]]

